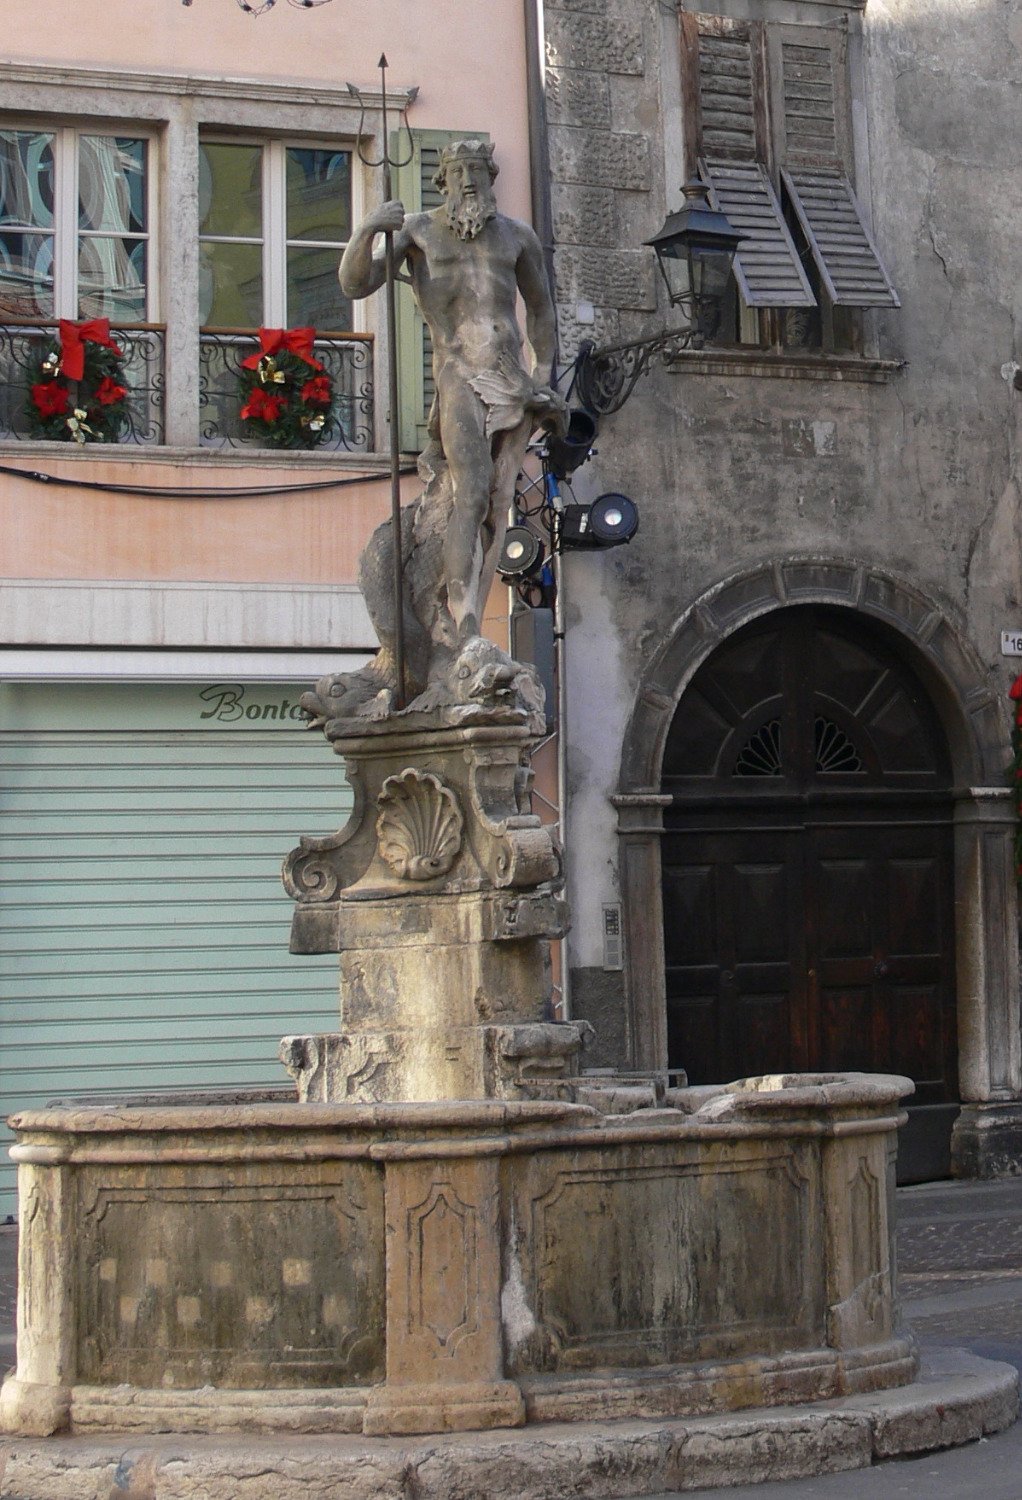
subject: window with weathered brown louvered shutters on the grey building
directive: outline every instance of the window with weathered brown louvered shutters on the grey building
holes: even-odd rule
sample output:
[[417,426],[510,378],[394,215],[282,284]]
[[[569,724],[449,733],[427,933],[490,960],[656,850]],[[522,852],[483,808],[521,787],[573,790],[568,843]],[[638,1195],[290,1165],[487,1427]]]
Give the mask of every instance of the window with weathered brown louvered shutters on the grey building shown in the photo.
[[720,342],[857,350],[854,309],[899,302],[852,188],[846,27],[680,20],[687,172],[749,236]]

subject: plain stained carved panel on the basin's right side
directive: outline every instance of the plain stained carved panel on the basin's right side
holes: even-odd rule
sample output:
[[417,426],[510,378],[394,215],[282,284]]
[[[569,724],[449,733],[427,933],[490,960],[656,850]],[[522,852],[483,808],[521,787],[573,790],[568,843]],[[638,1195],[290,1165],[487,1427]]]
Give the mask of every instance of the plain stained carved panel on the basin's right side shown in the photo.
[[600,1155],[546,1158],[519,1198],[536,1326],[512,1352],[516,1372],[812,1346],[824,1311],[806,1278],[816,1192],[804,1162]]

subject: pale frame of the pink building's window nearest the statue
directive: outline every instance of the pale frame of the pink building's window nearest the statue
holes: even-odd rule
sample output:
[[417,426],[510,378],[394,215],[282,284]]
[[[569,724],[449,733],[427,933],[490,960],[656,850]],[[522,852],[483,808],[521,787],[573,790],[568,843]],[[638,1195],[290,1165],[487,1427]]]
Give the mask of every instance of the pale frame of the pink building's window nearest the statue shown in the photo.
[[[240,134],[240,132],[224,132],[216,129],[198,129],[198,152],[201,160],[201,152],[204,146],[249,146],[258,147],[263,153],[261,160],[261,192],[263,192],[263,234],[260,238],[255,236],[228,236],[228,234],[203,234],[201,224],[198,232],[198,243],[201,244],[261,244],[261,267],[263,267],[263,321],[257,327],[266,328],[284,328],[291,327],[293,320],[287,314],[287,258],[288,249],[293,244],[303,244],[311,249],[336,249],[338,262],[345,250],[347,240],[290,240],[287,237],[287,153],[288,150],[315,150],[315,152],[345,152],[351,159],[350,183],[351,183],[351,228],[362,219],[362,195],[363,195],[363,172],[359,170],[359,153],[354,142],[348,142],[339,138],[327,136],[299,136],[287,134]],[[201,254],[201,252],[200,252]],[[212,333],[218,330],[218,324],[198,322],[200,333]],[[351,306],[351,327],[348,328],[318,328],[318,333],[338,334],[338,333],[365,333],[366,332],[366,315],[365,303],[354,302]]]

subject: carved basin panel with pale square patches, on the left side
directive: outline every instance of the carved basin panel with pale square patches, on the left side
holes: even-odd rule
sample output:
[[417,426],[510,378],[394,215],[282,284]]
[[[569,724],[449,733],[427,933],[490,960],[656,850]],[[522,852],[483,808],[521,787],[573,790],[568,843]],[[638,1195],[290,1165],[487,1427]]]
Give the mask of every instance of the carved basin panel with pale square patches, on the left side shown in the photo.
[[78,1377],[264,1389],[383,1378],[377,1168],[83,1174]]

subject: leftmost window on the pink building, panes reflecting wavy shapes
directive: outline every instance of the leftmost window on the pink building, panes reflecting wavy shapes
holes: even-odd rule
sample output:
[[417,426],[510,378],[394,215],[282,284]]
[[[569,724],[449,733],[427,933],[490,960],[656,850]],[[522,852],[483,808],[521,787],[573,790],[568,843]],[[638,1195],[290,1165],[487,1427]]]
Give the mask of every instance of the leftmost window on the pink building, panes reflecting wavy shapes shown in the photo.
[[0,316],[152,315],[144,136],[0,130]]

